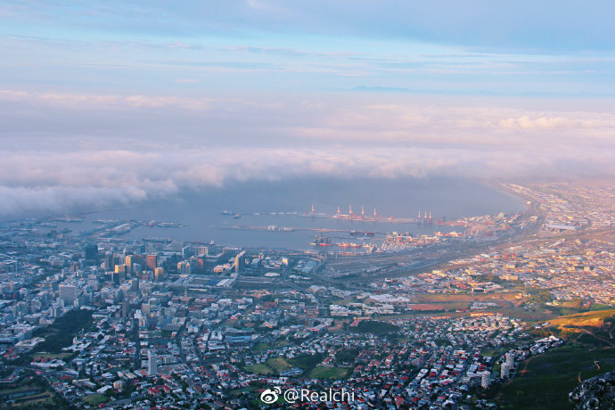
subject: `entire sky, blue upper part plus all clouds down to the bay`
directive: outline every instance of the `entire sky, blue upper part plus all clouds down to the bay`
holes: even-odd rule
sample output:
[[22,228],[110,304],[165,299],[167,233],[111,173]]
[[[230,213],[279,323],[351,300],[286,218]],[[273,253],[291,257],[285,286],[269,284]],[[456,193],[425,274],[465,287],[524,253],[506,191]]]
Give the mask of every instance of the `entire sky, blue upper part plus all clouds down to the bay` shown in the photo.
[[611,1],[0,4],[0,217],[291,176],[615,174]]

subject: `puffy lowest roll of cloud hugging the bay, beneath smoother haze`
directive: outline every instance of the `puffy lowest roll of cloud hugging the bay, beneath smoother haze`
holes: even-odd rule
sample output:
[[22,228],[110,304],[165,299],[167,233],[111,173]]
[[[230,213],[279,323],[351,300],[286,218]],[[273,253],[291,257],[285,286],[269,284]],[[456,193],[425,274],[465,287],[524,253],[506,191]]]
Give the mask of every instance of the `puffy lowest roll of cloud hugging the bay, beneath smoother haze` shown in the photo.
[[165,152],[0,152],[0,216],[101,209],[237,181],[302,176],[510,178],[615,174],[613,152],[434,148],[202,148]]

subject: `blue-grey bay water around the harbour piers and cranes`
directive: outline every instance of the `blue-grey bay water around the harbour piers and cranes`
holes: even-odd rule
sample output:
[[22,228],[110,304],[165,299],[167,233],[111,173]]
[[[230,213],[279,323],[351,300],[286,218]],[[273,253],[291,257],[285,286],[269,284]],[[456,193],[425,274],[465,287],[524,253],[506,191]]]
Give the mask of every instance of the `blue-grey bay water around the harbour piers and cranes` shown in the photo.
[[[314,206],[317,216],[311,216]],[[522,201],[485,184],[450,178],[324,179],[302,178],[276,182],[245,182],[224,187],[185,191],[171,198],[134,204],[133,208],[104,210],[84,215],[82,222],[56,222],[72,234],[85,233],[98,226],[96,220],[128,219],[176,222],[181,227],[138,226],[119,237],[127,239],[170,238],[184,242],[210,242],[230,246],[283,249],[313,249],[309,245],[320,233],[331,242],[377,243],[392,231],[410,234],[448,232],[452,226],[419,225],[332,219],[338,207],[348,214],[374,209],[382,221],[389,217],[415,218],[421,211],[439,218],[512,213],[523,209]],[[231,211],[231,215],[223,214]],[[241,217],[239,217],[241,215]],[[152,224],[155,225],[155,224]],[[266,230],[269,226],[270,230]],[[240,229],[236,229],[240,228]],[[283,232],[281,228],[296,229]],[[458,229],[458,228],[457,228]],[[349,231],[374,232],[358,238]],[[340,231],[340,232],[337,232]],[[335,248],[335,247],[333,247]],[[340,248],[337,248],[340,250]]]

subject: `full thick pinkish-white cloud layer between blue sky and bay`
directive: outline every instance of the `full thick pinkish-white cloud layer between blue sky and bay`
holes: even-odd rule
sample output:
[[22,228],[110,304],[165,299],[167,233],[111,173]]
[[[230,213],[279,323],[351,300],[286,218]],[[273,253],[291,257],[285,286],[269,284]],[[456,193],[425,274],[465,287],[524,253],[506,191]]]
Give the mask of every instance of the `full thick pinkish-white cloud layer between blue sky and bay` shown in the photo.
[[[497,100],[493,100],[496,101]],[[455,105],[464,102],[467,105]],[[0,94],[0,215],[302,176],[611,176],[615,114],[484,99]],[[606,104],[605,104],[606,105]],[[601,108],[601,107],[598,107]],[[605,108],[605,107],[603,107]]]

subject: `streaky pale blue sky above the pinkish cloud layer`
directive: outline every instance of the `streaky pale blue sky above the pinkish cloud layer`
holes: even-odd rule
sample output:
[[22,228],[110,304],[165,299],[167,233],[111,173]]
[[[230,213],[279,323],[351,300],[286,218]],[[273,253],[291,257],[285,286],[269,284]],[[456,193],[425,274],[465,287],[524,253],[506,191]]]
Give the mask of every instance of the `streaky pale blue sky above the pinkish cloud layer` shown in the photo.
[[[19,1],[4,87],[608,95],[612,2]],[[189,86],[186,86],[189,85]]]

